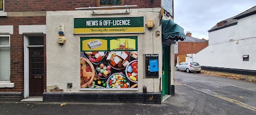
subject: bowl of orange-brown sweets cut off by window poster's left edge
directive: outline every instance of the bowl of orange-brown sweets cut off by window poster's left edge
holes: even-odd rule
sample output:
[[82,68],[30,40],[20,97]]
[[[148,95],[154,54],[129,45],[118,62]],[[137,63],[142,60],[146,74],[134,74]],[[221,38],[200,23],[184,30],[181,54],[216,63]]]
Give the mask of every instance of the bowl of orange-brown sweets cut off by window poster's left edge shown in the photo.
[[86,88],[92,83],[95,70],[92,63],[84,57],[80,57],[80,71],[81,88]]

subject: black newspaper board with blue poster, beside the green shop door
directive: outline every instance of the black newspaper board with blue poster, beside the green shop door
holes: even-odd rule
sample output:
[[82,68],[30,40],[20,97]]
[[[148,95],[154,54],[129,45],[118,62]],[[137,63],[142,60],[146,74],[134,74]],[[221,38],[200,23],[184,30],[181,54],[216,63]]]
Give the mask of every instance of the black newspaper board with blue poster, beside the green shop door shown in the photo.
[[146,78],[158,78],[158,54],[145,54],[146,59]]

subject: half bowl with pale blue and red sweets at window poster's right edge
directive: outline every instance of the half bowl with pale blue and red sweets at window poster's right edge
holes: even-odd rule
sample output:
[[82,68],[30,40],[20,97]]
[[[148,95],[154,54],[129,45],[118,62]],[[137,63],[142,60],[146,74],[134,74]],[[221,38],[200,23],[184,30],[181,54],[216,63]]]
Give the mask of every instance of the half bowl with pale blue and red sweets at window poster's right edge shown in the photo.
[[131,61],[127,65],[125,73],[130,81],[133,83],[138,83],[138,60]]

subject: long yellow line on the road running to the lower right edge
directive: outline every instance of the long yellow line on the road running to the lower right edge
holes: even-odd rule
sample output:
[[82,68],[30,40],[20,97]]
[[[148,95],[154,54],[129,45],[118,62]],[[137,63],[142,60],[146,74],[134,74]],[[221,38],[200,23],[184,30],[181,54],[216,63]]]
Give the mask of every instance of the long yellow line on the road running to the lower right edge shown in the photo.
[[[193,88],[193,89],[196,89],[196,88],[191,87],[191,86],[188,86],[188,85],[186,85],[186,86],[187,86],[187,87],[190,87],[190,88]],[[206,93],[206,92],[204,92],[204,91],[201,91],[201,90],[199,90],[199,89],[196,89],[196,90],[197,90],[197,91],[200,91],[200,92],[203,92],[203,93],[205,93],[205,94],[214,96],[214,97],[221,98],[222,100],[228,101],[228,102],[230,102],[230,103],[234,103],[234,104],[239,105],[239,106],[242,106],[242,107],[244,107],[244,108],[246,108],[246,109],[250,109],[250,110],[252,110],[252,111],[256,111],[256,108],[254,108],[253,106],[244,104],[244,103],[242,103],[242,102],[233,100],[233,99],[231,99],[231,98],[222,97],[222,96],[220,96],[220,95],[212,95],[212,94]]]

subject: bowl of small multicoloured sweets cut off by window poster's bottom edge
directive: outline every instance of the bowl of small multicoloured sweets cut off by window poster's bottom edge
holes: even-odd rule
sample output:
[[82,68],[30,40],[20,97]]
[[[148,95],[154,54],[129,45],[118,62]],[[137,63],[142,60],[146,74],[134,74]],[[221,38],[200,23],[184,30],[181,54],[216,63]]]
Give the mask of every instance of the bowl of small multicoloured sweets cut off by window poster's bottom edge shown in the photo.
[[130,81],[122,73],[114,73],[107,80],[107,88],[130,88]]

